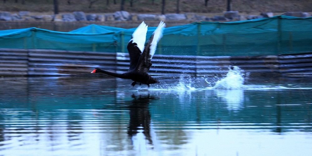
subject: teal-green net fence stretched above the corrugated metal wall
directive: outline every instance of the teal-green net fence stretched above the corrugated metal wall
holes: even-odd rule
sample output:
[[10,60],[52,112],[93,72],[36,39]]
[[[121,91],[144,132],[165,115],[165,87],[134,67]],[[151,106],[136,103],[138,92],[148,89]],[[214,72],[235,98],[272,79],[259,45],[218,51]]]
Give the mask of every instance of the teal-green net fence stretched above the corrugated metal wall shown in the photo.
[[[149,27],[147,38],[156,27]],[[127,53],[135,28],[89,25],[71,32],[39,28],[0,31],[1,48]],[[194,22],[165,28],[156,54],[257,56],[312,51],[312,17],[275,16],[238,22]]]

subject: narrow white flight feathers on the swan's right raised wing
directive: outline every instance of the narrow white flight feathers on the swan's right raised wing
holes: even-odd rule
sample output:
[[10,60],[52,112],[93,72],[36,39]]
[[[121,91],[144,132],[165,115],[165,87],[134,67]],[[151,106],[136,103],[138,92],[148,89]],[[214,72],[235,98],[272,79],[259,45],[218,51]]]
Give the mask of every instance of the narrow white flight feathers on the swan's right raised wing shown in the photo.
[[152,59],[152,57],[154,56],[157,43],[163,37],[164,27],[166,27],[166,24],[163,21],[160,21],[158,27],[155,29],[155,31],[152,34],[152,37],[151,37],[152,42],[151,42],[150,51],[149,51],[149,55],[151,55],[151,57],[149,59]]

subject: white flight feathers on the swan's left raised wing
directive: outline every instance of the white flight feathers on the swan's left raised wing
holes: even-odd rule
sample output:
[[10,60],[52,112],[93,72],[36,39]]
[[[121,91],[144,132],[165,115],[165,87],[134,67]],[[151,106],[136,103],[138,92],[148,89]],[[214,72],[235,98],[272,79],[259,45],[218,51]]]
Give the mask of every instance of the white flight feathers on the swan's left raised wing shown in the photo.
[[[138,48],[141,52],[144,51],[144,45],[146,41],[146,32],[147,32],[147,25],[144,21],[135,29],[132,34],[132,39],[130,41],[137,44]],[[129,41],[129,42],[130,42]]]

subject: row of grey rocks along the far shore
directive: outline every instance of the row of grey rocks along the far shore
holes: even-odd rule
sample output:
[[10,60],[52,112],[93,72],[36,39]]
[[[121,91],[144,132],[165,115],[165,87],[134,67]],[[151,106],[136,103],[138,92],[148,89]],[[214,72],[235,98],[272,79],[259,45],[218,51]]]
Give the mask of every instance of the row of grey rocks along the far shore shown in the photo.
[[[310,17],[307,12],[286,12],[286,16],[294,17]],[[227,11],[223,16],[206,17],[197,15],[193,12],[188,13],[170,13],[165,15],[160,14],[135,14],[126,11],[117,11],[115,13],[105,14],[85,14],[77,11],[73,13],[56,14],[56,15],[36,15],[31,16],[29,11],[20,11],[18,14],[10,12],[0,12],[0,21],[55,21],[55,22],[75,22],[75,21],[239,21],[256,18],[273,17],[273,12],[261,12],[260,15],[240,15],[238,11]]]

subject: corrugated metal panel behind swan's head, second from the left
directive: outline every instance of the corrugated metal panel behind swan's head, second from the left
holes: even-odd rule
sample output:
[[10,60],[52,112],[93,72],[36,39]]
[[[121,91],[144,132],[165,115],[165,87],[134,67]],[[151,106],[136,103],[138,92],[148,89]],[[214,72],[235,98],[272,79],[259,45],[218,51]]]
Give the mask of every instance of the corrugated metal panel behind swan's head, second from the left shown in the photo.
[[115,70],[115,53],[30,50],[29,75],[71,76],[92,69]]

